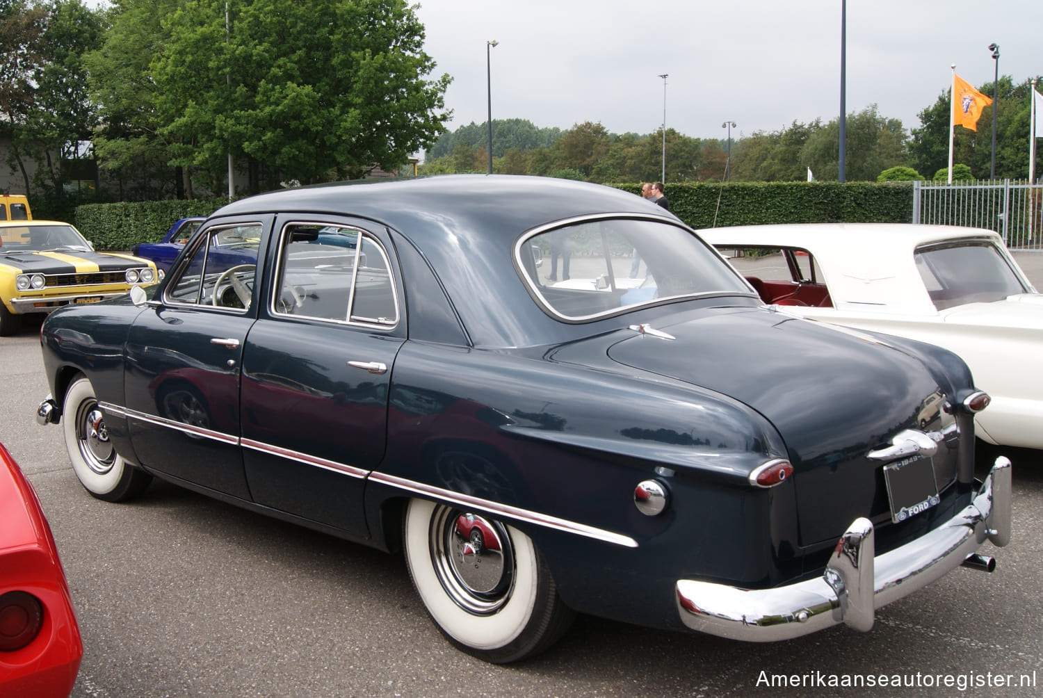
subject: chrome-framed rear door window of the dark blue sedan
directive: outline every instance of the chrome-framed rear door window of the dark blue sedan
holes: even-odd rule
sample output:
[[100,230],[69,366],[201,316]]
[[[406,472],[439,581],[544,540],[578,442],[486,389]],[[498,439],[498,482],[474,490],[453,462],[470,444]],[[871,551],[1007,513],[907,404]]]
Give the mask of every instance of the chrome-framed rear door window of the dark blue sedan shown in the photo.
[[398,298],[387,254],[355,227],[290,223],[280,242],[272,311],[393,328]]

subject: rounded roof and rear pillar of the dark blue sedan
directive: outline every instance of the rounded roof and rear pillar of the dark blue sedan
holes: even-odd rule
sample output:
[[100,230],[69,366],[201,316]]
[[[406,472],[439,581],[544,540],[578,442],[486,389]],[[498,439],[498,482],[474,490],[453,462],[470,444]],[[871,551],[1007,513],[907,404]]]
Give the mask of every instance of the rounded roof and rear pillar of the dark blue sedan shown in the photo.
[[289,189],[229,203],[212,220],[259,213],[343,215],[395,231],[438,274],[475,342],[498,346],[562,341],[588,332],[551,318],[529,295],[514,268],[514,244],[523,233],[605,213],[683,225],[663,208],[621,189],[475,174]]

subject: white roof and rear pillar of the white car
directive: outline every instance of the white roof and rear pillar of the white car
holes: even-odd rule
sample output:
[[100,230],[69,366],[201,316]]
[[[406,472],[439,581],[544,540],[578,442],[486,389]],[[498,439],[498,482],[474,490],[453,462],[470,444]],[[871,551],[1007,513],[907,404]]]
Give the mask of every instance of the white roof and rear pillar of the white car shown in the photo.
[[[698,231],[719,247],[798,247],[818,261],[832,303],[886,305],[900,312],[933,313],[914,252],[923,245],[989,241],[1012,266],[994,231],[912,223],[784,223]],[[1020,270],[1019,270],[1020,274]],[[1024,274],[1020,274],[1022,278]],[[1027,281],[1024,283],[1027,284]]]

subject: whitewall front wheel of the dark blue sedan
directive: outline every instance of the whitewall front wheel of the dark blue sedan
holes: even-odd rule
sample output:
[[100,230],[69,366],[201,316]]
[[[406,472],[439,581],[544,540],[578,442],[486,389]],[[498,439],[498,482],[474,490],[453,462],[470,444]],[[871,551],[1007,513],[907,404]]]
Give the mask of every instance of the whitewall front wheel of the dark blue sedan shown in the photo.
[[145,491],[152,476],[116,453],[94,387],[87,378],[77,378],[69,386],[62,426],[72,470],[87,491],[106,502],[121,502]]

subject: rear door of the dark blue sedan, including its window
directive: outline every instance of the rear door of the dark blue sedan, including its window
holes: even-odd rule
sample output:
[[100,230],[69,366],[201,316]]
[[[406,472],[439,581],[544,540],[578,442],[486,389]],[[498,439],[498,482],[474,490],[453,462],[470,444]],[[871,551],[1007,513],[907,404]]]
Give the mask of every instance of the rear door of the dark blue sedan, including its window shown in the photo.
[[253,501],[366,534],[365,478],[384,457],[406,338],[387,232],[283,216],[264,308],[243,352],[242,437]]

